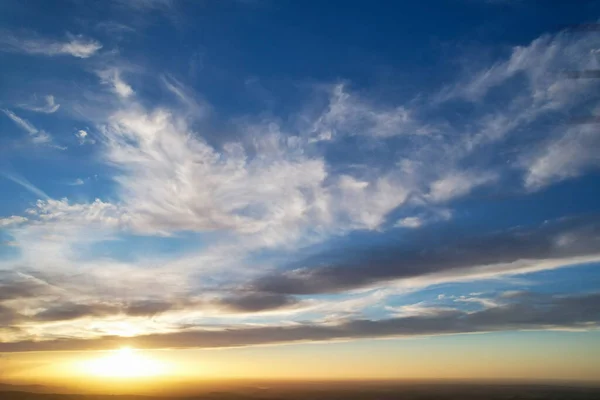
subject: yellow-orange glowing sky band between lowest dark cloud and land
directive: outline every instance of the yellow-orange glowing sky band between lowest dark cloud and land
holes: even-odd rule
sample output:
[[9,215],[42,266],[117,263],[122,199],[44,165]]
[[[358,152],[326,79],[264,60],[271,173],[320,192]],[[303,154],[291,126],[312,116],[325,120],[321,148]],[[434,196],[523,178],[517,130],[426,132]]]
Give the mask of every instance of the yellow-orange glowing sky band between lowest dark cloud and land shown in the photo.
[[600,348],[594,344],[599,338],[600,332],[520,332],[222,349],[5,353],[0,381],[150,394],[236,380],[598,383]]

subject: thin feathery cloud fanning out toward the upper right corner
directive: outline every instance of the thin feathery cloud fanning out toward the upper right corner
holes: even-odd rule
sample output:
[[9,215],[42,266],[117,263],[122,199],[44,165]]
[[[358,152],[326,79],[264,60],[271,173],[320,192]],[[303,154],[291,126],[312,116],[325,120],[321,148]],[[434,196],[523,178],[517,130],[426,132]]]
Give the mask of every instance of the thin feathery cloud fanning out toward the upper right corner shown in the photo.
[[[587,108],[585,105],[597,92],[600,82],[568,79],[564,71],[598,69],[600,60],[591,50],[599,45],[600,37],[595,34],[543,35],[527,46],[514,47],[506,59],[491,67],[468,71],[463,80],[439,92],[433,103],[462,99],[482,108],[489,105],[486,101],[489,93],[500,87],[504,91],[510,88],[508,100],[495,100],[493,107],[488,108],[491,111],[475,119],[466,132],[455,132],[461,138],[452,149],[455,157],[467,157],[484,151],[484,146],[498,146],[509,138],[515,139],[516,144],[508,150],[522,153],[526,146],[518,142],[517,134],[522,135],[527,129],[543,141],[550,129],[536,124],[547,119],[560,126],[565,114],[578,106]],[[560,118],[550,118],[557,114]],[[519,162],[522,165],[522,160]],[[527,185],[529,189],[536,187],[534,183]]]

